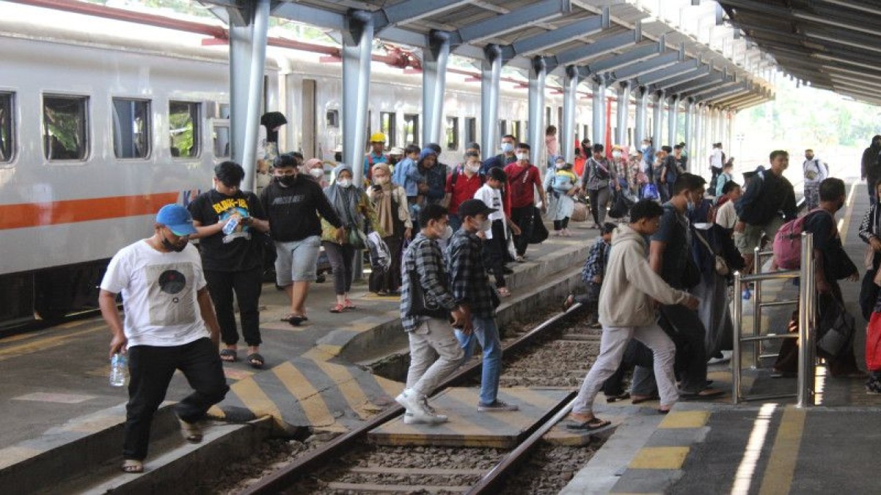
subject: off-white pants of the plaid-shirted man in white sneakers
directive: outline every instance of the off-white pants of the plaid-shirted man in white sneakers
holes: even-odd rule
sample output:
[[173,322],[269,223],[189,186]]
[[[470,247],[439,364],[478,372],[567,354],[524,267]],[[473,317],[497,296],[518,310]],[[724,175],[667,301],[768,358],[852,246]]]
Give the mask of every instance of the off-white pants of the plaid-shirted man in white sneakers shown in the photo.
[[[407,388],[419,396],[431,394],[438,383],[452,373],[463,358],[449,322],[439,318],[419,322],[410,336],[410,369]],[[437,360],[434,360],[435,352]]]

